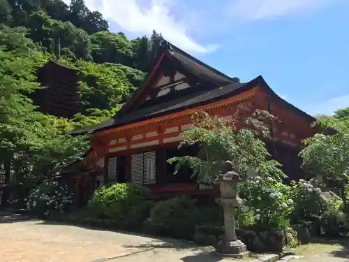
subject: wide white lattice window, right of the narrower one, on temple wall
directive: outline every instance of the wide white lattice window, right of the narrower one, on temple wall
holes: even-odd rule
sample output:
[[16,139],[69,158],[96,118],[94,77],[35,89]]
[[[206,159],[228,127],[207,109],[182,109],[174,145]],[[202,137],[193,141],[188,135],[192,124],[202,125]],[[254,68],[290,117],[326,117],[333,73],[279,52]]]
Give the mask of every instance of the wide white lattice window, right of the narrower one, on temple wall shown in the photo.
[[131,156],[131,177],[134,184],[156,184],[155,151]]

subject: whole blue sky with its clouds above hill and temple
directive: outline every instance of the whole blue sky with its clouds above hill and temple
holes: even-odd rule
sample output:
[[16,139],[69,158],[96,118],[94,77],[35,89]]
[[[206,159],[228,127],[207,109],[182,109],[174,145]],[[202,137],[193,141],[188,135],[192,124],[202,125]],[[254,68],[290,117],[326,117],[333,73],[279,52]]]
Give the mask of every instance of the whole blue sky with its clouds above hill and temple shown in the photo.
[[156,29],[227,75],[262,75],[311,115],[349,106],[348,0],[85,2],[103,13],[111,31],[135,38]]

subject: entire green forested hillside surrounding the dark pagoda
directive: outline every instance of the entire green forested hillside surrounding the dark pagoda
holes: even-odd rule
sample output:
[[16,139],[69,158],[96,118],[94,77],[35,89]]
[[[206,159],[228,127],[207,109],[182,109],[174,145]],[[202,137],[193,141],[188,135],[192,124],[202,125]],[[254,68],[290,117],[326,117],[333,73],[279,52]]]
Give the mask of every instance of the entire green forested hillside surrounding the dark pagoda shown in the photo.
[[[82,75],[84,112],[70,120],[38,112],[28,98],[59,41],[61,62]],[[89,142],[66,131],[112,117],[142,82],[161,41],[155,31],[133,40],[108,31],[83,0],[0,0],[0,183],[3,174],[6,182],[36,181],[80,159]]]

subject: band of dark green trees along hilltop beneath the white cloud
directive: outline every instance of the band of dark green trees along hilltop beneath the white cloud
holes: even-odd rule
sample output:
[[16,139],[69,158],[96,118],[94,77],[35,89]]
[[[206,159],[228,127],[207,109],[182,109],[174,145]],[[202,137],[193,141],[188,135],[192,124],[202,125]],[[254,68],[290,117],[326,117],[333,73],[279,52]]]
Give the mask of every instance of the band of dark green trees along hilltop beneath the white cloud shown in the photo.
[[0,23],[10,27],[26,27],[30,38],[49,54],[57,53],[72,59],[96,63],[123,64],[149,71],[155,54],[163,42],[153,32],[133,41],[125,34],[108,31],[108,23],[98,11],[91,11],[83,0],[67,6],[61,0],[1,0]]

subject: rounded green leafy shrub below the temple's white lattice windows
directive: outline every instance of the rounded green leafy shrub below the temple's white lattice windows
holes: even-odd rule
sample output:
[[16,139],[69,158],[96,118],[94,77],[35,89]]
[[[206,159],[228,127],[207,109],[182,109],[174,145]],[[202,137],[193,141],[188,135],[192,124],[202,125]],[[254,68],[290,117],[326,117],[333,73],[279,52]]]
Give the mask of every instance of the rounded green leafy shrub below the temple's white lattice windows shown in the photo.
[[98,218],[114,219],[119,228],[138,228],[149,215],[150,199],[146,187],[130,183],[107,184],[96,190],[89,208]]

